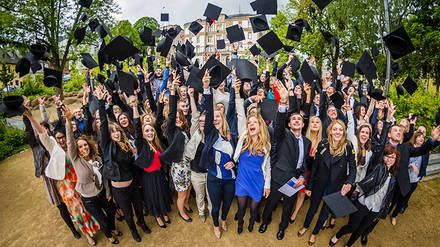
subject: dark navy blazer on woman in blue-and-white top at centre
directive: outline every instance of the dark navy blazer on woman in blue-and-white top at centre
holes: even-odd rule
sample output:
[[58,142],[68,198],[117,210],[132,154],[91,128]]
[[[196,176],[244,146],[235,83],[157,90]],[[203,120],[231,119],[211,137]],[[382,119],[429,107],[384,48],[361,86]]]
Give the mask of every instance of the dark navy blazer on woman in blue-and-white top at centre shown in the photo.
[[[233,94],[233,92],[231,94]],[[205,146],[203,147],[202,156],[200,157],[200,167],[207,170],[214,170],[216,165],[212,148],[214,143],[220,137],[220,134],[214,126],[214,106],[212,93],[203,94],[203,98],[203,108],[206,116],[205,126],[203,128],[203,132],[205,133]],[[235,150],[235,147],[237,146],[237,138],[234,138],[231,135],[230,143],[233,150]],[[231,155],[230,161],[234,162],[233,155]]]

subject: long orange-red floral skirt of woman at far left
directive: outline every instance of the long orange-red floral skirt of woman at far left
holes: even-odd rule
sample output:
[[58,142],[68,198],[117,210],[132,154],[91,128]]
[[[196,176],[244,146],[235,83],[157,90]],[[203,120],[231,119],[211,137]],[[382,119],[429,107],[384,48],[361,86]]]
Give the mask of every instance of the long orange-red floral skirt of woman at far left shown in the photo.
[[81,196],[75,191],[76,181],[75,170],[69,162],[66,162],[66,176],[64,180],[57,180],[57,189],[72,216],[73,222],[84,234],[93,237],[96,231],[99,230],[99,223],[84,208]]

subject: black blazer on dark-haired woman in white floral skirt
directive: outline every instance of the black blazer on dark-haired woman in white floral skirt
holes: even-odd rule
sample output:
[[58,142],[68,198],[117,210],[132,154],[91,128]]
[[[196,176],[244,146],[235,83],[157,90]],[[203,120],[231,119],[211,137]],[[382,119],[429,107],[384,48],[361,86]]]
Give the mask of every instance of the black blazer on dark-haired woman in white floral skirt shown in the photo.
[[[167,149],[159,155],[159,158],[167,163],[180,162],[183,159],[183,152],[185,151],[185,135],[176,126],[177,116],[177,96],[170,95],[170,113],[165,127],[168,144]],[[189,138],[189,134],[188,134]]]

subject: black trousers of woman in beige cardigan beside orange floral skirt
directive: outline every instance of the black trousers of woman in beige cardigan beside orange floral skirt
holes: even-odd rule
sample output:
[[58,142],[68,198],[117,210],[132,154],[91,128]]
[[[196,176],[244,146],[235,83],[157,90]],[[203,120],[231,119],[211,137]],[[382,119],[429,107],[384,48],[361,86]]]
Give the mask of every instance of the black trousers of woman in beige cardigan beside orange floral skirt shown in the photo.
[[81,199],[86,210],[89,211],[89,213],[98,221],[105,236],[111,238],[111,231],[116,229],[116,206],[112,200],[107,200],[105,190],[102,190],[97,196],[81,197]]

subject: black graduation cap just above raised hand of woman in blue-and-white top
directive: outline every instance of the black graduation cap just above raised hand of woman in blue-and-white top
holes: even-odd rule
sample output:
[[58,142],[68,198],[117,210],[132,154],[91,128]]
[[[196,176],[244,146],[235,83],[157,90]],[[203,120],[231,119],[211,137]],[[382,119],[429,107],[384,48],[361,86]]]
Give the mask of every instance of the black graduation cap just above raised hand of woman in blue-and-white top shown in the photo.
[[217,88],[231,73],[231,70],[226,67],[223,63],[215,58],[215,54],[209,57],[205,65],[200,70],[198,77],[203,78],[205,71],[209,70],[209,75],[211,76],[211,83],[209,86]]

